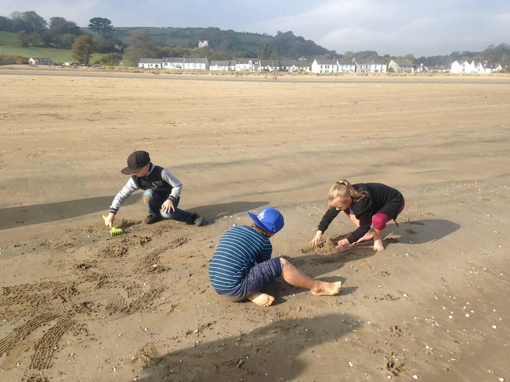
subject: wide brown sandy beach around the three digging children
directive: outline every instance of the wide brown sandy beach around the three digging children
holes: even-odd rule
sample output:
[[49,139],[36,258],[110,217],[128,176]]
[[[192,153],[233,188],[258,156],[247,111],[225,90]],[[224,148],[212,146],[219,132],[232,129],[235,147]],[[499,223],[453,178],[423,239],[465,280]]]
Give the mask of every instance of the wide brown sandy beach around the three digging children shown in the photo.
[[[0,89],[1,380],[510,380],[510,77],[4,67]],[[137,193],[109,236],[136,149],[206,226],[146,226]],[[338,178],[404,194],[386,251],[337,253],[344,216],[308,245]],[[274,255],[339,296],[215,295],[219,237],[267,204],[286,221]]]

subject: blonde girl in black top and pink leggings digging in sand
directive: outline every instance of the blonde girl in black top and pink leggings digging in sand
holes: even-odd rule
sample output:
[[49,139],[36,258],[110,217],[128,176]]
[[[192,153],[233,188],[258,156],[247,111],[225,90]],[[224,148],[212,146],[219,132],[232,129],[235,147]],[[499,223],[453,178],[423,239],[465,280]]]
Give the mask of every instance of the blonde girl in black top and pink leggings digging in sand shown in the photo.
[[[330,207],[322,217],[310,244],[317,245],[329,224],[340,211],[344,211],[358,228],[340,240],[337,249],[345,251],[351,244],[373,239],[374,251],[383,251],[382,232],[390,220],[397,219],[398,214],[404,209],[405,202],[398,190],[385,184],[351,185],[347,180],[340,179],[329,189],[328,204]],[[374,233],[370,231],[371,226],[374,227]]]

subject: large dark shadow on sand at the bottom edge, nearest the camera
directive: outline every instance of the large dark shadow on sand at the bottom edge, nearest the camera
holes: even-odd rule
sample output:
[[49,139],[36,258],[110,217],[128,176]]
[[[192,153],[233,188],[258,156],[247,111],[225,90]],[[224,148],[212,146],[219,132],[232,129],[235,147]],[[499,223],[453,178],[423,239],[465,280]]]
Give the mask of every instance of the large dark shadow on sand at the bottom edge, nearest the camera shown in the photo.
[[[297,380],[307,367],[302,353],[347,336],[358,320],[348,314],[326,314],[315,318],[284,319],[253,330],[234,334],[181,350],[158,354],[149,346],[138,351],[144,370],[139,381],[260,381]],[[233,327],[233,330],[234,327]],[[194,333],[192,334],[194,335]],[[135,358],[135,362],[137,358]],[[327,368],[327,365],[324,365]],[[331,369],[321,377],[338,377]]]

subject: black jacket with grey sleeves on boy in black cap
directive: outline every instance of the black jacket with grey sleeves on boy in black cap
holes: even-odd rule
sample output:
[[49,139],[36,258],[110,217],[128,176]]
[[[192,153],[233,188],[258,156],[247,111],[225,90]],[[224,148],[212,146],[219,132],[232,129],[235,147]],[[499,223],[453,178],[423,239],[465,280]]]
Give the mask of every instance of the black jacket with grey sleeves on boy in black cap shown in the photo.
[[146,176],[131,175],[124,187],[113,199],[110,206],[111,213],[117,213],[124,201],[137,189],[152,189],[162,197],[177,201],[181,196],[183,184],[170,171],[150,163],[150,170]]

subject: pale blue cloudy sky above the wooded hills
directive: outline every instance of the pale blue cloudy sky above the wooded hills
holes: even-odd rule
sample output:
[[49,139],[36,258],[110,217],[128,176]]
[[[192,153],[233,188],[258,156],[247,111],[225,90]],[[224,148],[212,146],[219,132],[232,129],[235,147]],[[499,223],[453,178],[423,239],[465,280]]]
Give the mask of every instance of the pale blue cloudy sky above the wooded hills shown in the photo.
[[105,17],[113,26],[292,31],[338,53],[375,50],[380,56],[443,56],[510,44],[510,0],[0,0],[0,16],[14,11],[79,26]]

